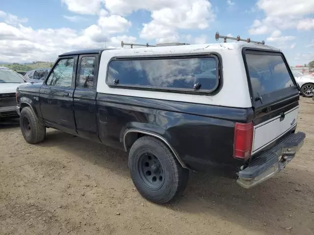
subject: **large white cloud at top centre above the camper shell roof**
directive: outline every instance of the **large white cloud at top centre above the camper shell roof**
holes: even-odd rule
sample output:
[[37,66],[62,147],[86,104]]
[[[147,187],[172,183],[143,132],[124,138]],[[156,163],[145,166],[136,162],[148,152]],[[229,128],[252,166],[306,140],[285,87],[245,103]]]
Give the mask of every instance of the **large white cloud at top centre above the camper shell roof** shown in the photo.
[[177,29],[205,29],[214,20],[209,0],[104,0],[111,14],[128,15],[133,11],[151,13],[151,22],[144,23],[140,37],[157,42],[178,40]]

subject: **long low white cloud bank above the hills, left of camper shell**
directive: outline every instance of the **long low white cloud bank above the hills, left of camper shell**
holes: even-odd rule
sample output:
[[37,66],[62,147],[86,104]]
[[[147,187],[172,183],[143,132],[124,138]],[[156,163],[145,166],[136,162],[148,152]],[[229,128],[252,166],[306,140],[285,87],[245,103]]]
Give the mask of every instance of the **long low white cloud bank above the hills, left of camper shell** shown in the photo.
[[98,25],[76,31],[70,28],[32,29],[21,24],[0,23],[0,58],[7,62],[34,60],[54,61],[66,51],[105,47],[121,47],[121,40],[135,42],[135,37],[108,36]]

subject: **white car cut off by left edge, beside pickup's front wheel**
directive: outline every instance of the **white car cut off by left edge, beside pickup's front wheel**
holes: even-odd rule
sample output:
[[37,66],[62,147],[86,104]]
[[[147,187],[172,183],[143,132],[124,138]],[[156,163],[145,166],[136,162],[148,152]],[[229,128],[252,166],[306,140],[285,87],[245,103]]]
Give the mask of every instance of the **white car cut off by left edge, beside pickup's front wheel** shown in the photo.
[[25,81],[17,72],[0,67],[0,119],[18,116],[16,112],[16,89]]

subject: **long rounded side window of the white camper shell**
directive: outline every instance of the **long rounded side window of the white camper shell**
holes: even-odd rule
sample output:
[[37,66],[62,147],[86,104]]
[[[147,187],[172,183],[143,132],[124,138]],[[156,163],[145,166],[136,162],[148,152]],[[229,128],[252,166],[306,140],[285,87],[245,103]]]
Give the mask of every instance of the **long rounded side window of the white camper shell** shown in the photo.
[[219,85],[215,56],[118,58],[107,74],[109,86],[210,93]]

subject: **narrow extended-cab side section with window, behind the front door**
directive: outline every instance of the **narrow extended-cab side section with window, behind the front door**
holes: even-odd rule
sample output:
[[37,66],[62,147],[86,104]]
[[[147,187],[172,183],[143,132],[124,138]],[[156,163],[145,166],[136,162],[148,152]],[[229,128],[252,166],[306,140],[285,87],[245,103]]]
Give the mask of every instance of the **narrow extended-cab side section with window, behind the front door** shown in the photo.
[[100,142],[96,109],[98,62],[98,54],[79,56],[73,105],[78,135]]

